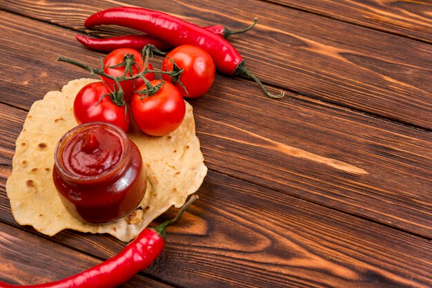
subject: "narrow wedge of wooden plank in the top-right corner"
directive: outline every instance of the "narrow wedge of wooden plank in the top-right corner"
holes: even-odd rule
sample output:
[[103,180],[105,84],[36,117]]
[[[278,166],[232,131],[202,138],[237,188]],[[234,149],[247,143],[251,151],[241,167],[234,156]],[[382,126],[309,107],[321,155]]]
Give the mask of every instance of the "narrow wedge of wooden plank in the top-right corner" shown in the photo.
[[432,43],[431,1],[268,1]]

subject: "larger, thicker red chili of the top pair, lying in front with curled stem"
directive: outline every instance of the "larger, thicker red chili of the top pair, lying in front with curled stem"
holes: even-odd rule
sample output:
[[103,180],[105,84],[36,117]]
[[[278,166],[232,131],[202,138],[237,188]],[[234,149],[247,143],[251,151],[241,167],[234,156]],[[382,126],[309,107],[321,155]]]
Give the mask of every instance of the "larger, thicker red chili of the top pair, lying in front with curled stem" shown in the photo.
[[248,75],[261,86],[268,97],[279,98],[284,92],[273,95],[246,68],[243,57],[226,39],[193,23],[164,12],[136,7],[117,7],[97,12],[86,19],[84,26],[119,25],[145,32],[168,42],[172,46],[184,44],[198,46],[210,54],[216,69],[228,75]]

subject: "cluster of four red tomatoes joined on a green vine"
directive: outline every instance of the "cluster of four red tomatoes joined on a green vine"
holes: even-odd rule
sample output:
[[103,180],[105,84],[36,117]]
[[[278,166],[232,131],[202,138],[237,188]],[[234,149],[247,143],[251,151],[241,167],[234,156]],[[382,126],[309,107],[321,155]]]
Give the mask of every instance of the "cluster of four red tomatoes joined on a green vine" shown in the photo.
[[[133,61],[126,61],[128,57]],[[166,135],[183,122],[186,113],[183,97],[203,95],[215,79],[213,59],[195,46],[179,46],[166,55],[162,80],[155,80],[154,72],[147,73],[153,71],[153,66],[147,65],[137,50],[119,48],[110,52],[104,58],[107,76],[84,86],[75,98],[73,110],[77,122],[109,122],[128,131],[133,120],[148,135]],[[140,77],[118,82],[112,79],[135,75]]]

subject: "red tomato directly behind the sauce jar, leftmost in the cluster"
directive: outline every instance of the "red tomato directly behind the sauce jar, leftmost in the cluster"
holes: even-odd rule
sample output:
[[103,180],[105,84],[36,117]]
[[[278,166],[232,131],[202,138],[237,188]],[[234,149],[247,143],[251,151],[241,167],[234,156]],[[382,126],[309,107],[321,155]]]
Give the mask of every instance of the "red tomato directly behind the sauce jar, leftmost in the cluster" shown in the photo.
[[112,93],[112,90],[112,86],[103,82],[90,83],[81,88],[75,97],[73,108],[78,124],[108,122],[119,126],[125,132],[128,131],[130,114],[125,111],[126,105],[117,106],[112,103],[107,95]]

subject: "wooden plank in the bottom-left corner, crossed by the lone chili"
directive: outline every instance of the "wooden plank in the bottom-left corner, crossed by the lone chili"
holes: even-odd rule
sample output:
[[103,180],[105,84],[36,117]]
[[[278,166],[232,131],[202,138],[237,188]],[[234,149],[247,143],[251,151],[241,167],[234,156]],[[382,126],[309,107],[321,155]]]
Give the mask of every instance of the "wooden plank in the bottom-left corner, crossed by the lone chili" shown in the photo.
[[[0,222],[0,280],[32,285],[60,280],[101,262],[73,249],[32,236]],[[136,275],[119,287],[169,288],[157,280]]]

